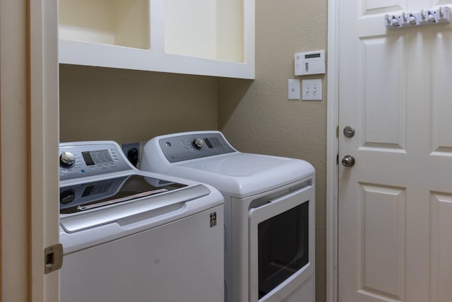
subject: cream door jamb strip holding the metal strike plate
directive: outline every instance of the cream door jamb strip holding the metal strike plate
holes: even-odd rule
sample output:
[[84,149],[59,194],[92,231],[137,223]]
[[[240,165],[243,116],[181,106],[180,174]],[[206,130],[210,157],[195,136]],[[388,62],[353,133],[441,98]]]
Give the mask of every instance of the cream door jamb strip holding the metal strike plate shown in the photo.
[[30,294],[59,301],[59,272],[44,274],[44,248],[59,243],[58,2],[29,1]]

